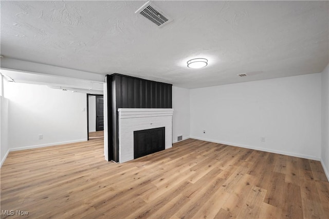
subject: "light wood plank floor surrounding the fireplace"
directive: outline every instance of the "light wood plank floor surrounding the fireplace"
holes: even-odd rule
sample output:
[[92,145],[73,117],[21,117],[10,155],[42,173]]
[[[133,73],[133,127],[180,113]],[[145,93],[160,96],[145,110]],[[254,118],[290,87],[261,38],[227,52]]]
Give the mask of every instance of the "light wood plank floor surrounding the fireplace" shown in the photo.
[[102,139],[16,151],[1,168],[1,210],[30,218],[329,218],[328,203],[319,161],[194,139],[123,164]]

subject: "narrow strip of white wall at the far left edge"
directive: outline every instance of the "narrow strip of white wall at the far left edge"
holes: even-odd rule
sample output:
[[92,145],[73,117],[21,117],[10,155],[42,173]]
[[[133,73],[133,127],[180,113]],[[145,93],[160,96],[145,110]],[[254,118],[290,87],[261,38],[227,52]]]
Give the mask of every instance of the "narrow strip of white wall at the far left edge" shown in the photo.
[[8,152],[8,104],[9,100],[0,97],[0,167],[3,165]]

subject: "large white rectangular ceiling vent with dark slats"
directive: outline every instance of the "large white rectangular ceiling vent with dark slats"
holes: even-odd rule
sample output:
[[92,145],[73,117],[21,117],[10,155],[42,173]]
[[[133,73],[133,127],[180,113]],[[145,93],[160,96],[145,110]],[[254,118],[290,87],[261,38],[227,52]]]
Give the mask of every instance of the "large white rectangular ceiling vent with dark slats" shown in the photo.
[[172,21],[171,17],[163,13],[158,7],[153,5],[151,2],[145,3],[136,12],[140,14],[152,23],[156,24],[158,27],[165,26]]

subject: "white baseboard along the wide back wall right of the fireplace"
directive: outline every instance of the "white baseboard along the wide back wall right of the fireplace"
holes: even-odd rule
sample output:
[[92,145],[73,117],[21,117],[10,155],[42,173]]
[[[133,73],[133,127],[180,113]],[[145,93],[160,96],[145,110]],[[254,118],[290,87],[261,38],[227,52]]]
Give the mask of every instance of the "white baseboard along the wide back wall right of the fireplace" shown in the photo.
[[288,155],[288,156],[293,156],[293,157],[300,157],[300,158],[311,159],[311,160],[320,160],[320,157],[308,156],[308,155],[305,155],[305,154],[290,153],[290,152],[272,150],[272,149],[267,149],[267,148],[258,148],[258,147],[253,147],[253,146],[245,145],[245,144],[237,144],[237,143],[232,143],[232,142],[217,141],[217,140],[199,138],[199,137],[193,137],[193,136],[191,136],[191,138],[198,139],[198,140],[203,140],[203,141],[210,141],[210,142],[214,142],[214,143],[227,144],[227,145],[231,145],[231,146],[235,146],[235,147],[247,148],[247,149],[252,149],[252,150],[265,151],[265,152],[270,152],[270,153],[275,153],[275,154],[283,154],[283,155]]

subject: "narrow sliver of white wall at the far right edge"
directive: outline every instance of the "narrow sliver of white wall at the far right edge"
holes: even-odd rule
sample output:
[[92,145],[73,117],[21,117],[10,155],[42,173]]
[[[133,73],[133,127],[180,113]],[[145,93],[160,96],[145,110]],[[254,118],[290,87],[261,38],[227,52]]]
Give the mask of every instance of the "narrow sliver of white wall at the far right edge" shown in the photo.
[[329,180],[329,65],[322,72],[321,162]]

